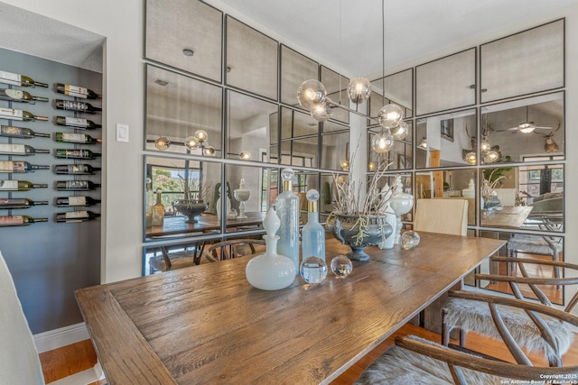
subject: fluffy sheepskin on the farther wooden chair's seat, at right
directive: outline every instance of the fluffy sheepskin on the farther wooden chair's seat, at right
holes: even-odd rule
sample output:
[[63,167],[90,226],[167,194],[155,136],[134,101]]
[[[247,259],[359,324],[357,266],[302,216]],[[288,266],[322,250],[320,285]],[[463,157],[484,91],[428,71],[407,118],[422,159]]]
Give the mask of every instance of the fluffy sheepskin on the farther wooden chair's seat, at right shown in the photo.
[[[554,349],[545,342],[540,331],[524,310],[504,306],[499,306],[498,309],[504,319],[504,324],[517,344],[529,352],[543,353],[549,360],[555,359]],[[489,306],[485,302],[450,298],[443,306],[443,314],[444,322],[450,327],[460,327],[465,331],[489,335],[500,341],[502,339],[489,313]],[[560,354],[563,355],[572,344],[573,333],[566,324],[554,318],[548,316],[542,316],[542,318],[555,335]]]

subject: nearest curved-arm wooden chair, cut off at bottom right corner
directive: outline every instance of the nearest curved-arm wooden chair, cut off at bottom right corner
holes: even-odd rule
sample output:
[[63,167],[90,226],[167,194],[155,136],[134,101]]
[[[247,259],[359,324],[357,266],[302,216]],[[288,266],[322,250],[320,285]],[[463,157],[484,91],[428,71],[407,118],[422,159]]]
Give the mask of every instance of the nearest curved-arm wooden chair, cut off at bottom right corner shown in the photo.
[[504,384],[523,380],[524,383],[545,383],[545,379],[578,378],[578,366],[534,366],[520,344],[512,338],[511,325],[504,322],[505,308],[535,315],[534,327],[547,329],[545,319],[578,326],[578,316],[554,307],[531,303],[517,298],[490,296],[469,291],[452,291],[452,299],[463,299],[486,307],[495,327],[515,362],[505,362],[466,348],[436,344],[415,335],[397,336],[396,344],[371,363],[361,374],[357,385],[375,384]]

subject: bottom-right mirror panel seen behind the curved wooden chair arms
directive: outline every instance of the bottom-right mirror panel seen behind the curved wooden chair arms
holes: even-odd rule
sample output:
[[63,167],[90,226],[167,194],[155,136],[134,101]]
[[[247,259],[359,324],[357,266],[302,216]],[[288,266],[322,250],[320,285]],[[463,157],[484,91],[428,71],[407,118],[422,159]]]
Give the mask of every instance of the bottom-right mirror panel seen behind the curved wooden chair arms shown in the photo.
[[[498,257],[514,257],[516,261],[526,261],[523,267],[528,278],[555,278],[568,274],[560,268],[544,264],[527,262],[527,259],[538,261],[564,261],[564,237],[537,234],[519,234],[497,231],[481,231],[480,236],[507,241],[506,246],[498,252]],[[523,277],[524,272],[518,263],[507,261],[490,261],[483,273]],[[480,287],[484,289],[512,294],[508,283],[482,280]],[[556,285],[538,285],[545,296],[557,305],[564,305],[564,287]],[[520,284],[519,289],[525,298],[536,299],[536,294],[527,285]]]

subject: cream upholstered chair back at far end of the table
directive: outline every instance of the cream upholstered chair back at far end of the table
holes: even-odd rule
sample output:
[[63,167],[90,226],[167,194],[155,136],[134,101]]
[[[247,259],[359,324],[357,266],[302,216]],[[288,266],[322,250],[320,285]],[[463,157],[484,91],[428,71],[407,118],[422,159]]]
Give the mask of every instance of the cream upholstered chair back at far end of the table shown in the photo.
[[414,230],[430,233],[466,235],[468,200],[456,198],[418,199]]

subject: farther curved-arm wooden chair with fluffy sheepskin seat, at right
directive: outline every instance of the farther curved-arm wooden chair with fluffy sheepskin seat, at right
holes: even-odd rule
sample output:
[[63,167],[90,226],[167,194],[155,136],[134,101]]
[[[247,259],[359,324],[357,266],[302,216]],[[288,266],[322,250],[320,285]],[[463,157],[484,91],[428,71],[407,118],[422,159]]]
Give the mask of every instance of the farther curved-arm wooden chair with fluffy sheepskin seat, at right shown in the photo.
[[[547,261],[533,258],[512,258],[512,257],[492,257],[490,261],[515,263],[521,276],[499,275],[499,274],[476,274],[477,280],[489,280],[493,282],[506,282],[518,300],[532,304],[539,301],[546,307],[552,307],[552,302],[545,295],[545,286],[565,287],[578,284],[578,264],[564,261]],[[531,266],[549,266],[563,270],[563,276],[570,278],[546,278],[532,277],[528,268]],[[573,272],[573,274],[570,274]],[[572,277],[573,276],[573,277]],[[525,298],[520,285],[527,285],[535,294],[537,301]],[[578,304],[578,292],[573,295],[568,305],[564,308],[564,313],[570,314]],[[505,325],[517,342],[517,344],[528,350],[544,353],[551,366],[562,366],[562,355],[566,353],[573,340],[573,333],[566,325],[555,318],[546,318],[542,328],[534,326],[536,324],[535,315],[526,309],[506,308],[502,317]],[[442,344],[449,344],[449,335],[452,329],[460,330],[460,345],[465,345],[465,335],[468,331],[488,335],[495,339],[500,339],[499,328],[494,327],[495,316],[487,307],[480,306],[479,303],[461,298],[450,298],[442,309]]]

